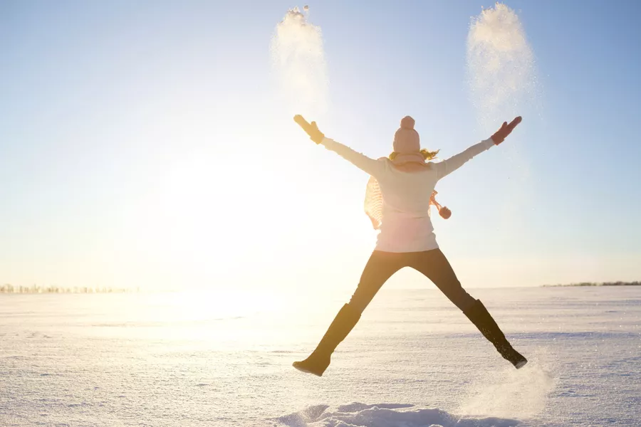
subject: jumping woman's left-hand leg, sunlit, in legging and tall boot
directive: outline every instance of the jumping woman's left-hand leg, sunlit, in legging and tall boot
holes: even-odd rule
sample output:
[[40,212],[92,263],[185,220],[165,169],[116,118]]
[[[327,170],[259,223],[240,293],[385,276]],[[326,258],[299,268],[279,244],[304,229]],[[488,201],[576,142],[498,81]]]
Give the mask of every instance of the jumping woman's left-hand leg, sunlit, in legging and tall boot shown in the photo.
[[372,253],[350,302],[340,309],[313,353],[301,362],[294,362],[293,367],[299,371],[318,376],[323,375],[330,364],[332,353],[358,323],[360,314],[368,306],[376,292],[387,279],[407,265],[405,263],[407,257],[404,255],[381,251]]

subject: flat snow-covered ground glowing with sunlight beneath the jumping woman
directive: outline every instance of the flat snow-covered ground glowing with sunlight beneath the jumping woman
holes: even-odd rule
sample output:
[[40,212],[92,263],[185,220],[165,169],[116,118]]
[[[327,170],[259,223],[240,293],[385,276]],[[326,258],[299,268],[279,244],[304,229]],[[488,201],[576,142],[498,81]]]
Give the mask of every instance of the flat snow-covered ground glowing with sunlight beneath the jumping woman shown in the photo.
[[[291,362],[346,295],[0,295],[0,426],[641,426],[641,288],[382,290],[325,376]],[[269,308],[266,308],[269,307]]]

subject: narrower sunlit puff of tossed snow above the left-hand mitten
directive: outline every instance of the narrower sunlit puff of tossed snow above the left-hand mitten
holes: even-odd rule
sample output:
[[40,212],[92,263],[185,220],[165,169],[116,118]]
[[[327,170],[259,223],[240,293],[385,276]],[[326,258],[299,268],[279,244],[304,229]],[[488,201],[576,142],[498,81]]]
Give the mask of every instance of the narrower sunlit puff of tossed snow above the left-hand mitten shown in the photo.
[[328,73],[323,35],[308,18],[308,6],[287,11],[271,39],[271,61],[291,112],[316,117],[328,107]]

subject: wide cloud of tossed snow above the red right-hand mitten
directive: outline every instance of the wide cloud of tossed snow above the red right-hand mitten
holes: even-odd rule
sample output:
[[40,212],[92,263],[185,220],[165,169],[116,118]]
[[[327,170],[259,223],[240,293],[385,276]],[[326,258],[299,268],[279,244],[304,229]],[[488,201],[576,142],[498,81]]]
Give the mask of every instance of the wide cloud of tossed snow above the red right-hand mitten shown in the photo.
[[484,133],[494,132],[517,115],[526,115],[523,109],[535,100],[534,55],[518,15],[505,4],[497,3],[471,19],[467,75],[471,101]]

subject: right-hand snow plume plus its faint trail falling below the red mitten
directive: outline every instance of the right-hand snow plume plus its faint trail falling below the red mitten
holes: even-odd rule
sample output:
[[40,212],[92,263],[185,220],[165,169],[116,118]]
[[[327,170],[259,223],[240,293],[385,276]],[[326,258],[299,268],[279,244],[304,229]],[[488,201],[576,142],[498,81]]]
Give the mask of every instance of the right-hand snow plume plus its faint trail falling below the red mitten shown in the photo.
[[491,135],[501,123],[523,116],[523,125],[501,146],[506,157],[504,174],[509,184],[501,193],[501,223],[509,241],[510,230],[523,228],[522,212],[533,206],[528,195],[530,164],[521,152],[521,135],[540,115],[535,58],[526,33],[513,9],[497,3],[471,19],[467,35],[467,78],[480,135]]

